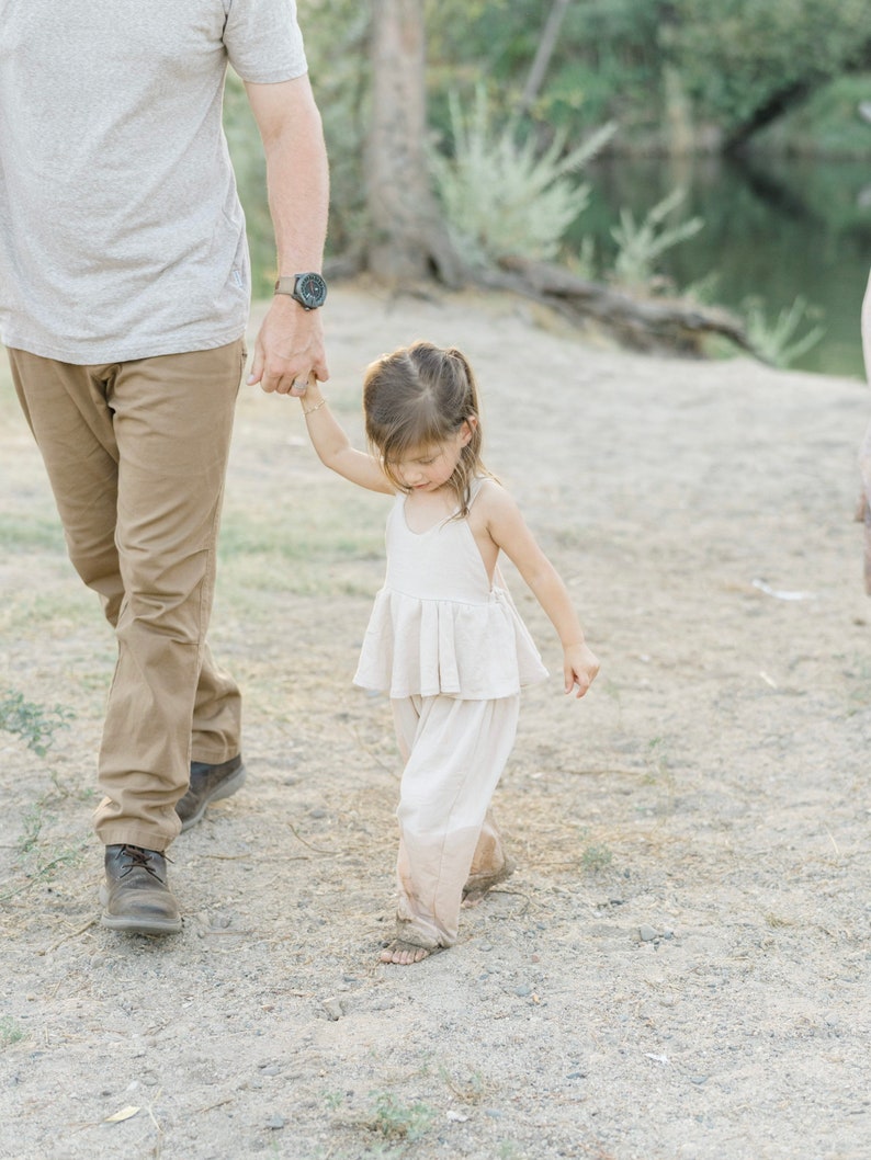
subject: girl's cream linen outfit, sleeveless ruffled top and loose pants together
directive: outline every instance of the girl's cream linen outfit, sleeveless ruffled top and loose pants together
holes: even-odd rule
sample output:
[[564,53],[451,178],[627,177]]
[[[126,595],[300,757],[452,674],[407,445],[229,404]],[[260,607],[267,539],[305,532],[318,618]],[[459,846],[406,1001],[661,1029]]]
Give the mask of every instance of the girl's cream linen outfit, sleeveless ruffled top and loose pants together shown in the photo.
[[[469,506],[482,486],[475,479]],[[468,521],[424,532],[398,493],[387,521],[387,577],[354,683],[387,691],[405,761],[399,790],[399,937],[456,940],[463,886],[504,869],[488,817],[511,753],[519,694],[547,676],[498,570],[490,583]]]

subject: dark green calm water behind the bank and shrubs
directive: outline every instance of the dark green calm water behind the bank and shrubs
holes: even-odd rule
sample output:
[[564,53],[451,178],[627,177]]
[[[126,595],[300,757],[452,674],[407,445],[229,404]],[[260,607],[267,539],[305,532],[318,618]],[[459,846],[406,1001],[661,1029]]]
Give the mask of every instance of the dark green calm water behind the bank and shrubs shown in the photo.
[[714,299],[740,309],[762,299],[770,324],[801,296],[823,339],[793,363],[864,378],[859,310],[871,268],[871,164],[859,161],[691,159],[612,160],[588,167],[591,202],[577,233],[591,234],[607,262],[621,206],[635,220],[676,186],[679,218],[704,229],[668,252],[661,269],[678,287],[717,271]]

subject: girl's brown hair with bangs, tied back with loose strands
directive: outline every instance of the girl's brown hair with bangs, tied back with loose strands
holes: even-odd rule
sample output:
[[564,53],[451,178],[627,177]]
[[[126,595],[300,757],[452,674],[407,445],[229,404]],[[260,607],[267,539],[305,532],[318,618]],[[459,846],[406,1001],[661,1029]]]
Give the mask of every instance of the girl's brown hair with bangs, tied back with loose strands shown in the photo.
[[401,491],[394,464],[408,451],[446,442],[467,419],[472,438],[460,452],[448,480],[460,517],[469,513],[470,484],[475,476],[489,474],[481,461],[481,413],[475,376],[454,347],[415,342],[382,355],[366,371],[363,416],[369,447],[381,458],[384,473]]

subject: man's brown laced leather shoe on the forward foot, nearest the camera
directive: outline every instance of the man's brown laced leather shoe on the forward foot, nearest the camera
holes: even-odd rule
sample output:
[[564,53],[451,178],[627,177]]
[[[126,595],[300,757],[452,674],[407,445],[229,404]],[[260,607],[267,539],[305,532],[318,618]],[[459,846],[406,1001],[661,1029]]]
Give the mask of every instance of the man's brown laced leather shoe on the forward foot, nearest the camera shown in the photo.
[[110,930],[172,935],[181,915],[166,882],[166,858],[138,846],[106,847],[106,882],[100,887],[100,921]]

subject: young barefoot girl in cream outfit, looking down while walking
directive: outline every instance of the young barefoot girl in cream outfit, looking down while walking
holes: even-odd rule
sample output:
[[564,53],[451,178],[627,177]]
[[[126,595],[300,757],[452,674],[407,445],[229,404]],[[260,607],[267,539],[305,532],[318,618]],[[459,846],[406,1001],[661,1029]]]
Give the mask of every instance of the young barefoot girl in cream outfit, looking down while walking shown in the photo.
[[547,670],[496,566],[502,550],[553,621],[566,693],[599,665],[566,586],[517,505],[481,461],[477,389],[466,358],[429,342],[373,363],[363,384],[370,455],[354,450],[317,383],[302,396],[321,461],[395,496],[387,579],[354,683],[389,693],[405,761],[399,904],[383,963],[417,963],[456,941],[460,906],[513,870],[489,813],[511,752],[520,688]]

